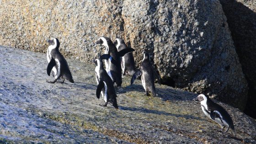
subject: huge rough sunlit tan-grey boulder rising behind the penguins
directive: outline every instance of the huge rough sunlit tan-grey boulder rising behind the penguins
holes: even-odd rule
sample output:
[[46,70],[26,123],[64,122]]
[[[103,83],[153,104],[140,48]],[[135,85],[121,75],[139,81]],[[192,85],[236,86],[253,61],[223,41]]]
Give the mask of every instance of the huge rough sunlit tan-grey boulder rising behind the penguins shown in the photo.
[[0,3],[2,45],[45,53],[45,40],[58,37],[65,56],[91,63],[103,53],[98,37],[123,37],[137,66],[144,49],[154,53],[164,83],[245,108],[247,82],[218,0]]

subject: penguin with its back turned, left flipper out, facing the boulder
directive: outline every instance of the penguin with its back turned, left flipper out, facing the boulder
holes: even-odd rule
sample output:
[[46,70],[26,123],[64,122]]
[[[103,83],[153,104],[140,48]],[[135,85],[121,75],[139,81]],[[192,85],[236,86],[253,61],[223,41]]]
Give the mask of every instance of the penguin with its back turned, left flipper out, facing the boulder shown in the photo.
[[[141,82],[145,90],[145,94],[149,96],[149,91],[156,96],[155,92],[155,69],[150,63],[149,53],[144,53],[143,60],[139,69],[133,74],[131,85],[138,76],[141,75]],[[160,82],[160,80],[158,80]]]

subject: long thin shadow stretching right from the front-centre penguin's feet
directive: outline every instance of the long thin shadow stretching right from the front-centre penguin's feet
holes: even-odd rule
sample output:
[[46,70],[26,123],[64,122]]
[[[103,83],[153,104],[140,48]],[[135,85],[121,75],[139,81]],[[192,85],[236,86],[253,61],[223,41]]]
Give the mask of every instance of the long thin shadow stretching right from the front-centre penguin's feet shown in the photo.
[[195,116],[188,115],[188,114],[185,114],[185,115],[173,114],[173,113],[169,113],[169,112],[163,112],[163,111],[158,111],[158,110],[151,110],[151,109],[147,109],[147,108],[144,108],[144,107],[123,107],[123,106],[119,106],[119,108],[121,110],[124,110],[124,111],[150,113],[150,114],[165,115],[165,116],[172,116],[172,117],[183,117],[183,118],[186,118],[186,119],[203,120],[200,117],[195,117]]

